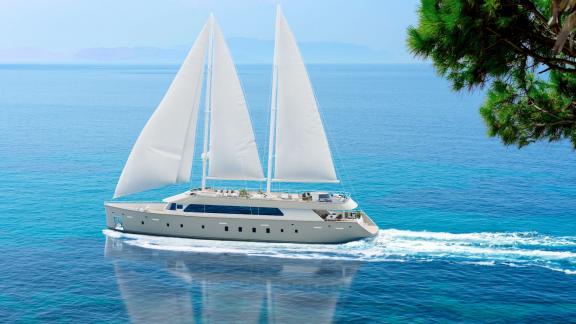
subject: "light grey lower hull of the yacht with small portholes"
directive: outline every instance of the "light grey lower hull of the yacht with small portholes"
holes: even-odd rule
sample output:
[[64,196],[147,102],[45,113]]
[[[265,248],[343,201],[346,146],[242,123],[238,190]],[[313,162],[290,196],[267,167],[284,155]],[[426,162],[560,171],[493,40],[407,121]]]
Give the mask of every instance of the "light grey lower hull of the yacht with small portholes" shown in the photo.
[[[375,236],[378,227],[364,215],[357,220],[325,221],[284,216],[179,213],[162,203],[107,203],[106,226],[124,233],[206,240],[336,244]],[[302,210],[294,210],[298,214]]]

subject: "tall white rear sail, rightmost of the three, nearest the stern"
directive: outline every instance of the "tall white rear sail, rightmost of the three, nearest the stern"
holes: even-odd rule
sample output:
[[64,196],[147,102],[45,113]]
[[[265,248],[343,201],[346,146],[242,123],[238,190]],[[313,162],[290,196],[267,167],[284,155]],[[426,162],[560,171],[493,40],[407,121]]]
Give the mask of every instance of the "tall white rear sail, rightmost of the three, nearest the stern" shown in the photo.
[[276,14],[274,73],[273,180],[338,182],[308,72],[280,7]]

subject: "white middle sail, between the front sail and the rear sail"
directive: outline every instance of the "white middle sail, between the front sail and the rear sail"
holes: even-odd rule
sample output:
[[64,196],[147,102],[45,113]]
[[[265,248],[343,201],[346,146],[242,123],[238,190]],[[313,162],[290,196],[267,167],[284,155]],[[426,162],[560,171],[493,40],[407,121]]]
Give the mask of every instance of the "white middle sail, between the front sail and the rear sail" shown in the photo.
[[263,180],[244,92],[226,41],[214,22],[208,177]]

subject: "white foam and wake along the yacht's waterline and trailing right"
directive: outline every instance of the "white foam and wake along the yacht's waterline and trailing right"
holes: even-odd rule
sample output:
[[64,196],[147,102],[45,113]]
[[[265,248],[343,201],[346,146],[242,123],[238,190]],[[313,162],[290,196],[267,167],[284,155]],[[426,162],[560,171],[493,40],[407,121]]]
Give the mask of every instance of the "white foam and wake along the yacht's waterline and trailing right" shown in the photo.
[[121,237],[134,246],[180,252],[368,262],[446,260],[482,266],[540,266],[576,274],[576,237],[535,232],[454,234],[388,229],[380,230],[370,240],[339,245],[208,241],[111,230],[105,230],[104,234]]

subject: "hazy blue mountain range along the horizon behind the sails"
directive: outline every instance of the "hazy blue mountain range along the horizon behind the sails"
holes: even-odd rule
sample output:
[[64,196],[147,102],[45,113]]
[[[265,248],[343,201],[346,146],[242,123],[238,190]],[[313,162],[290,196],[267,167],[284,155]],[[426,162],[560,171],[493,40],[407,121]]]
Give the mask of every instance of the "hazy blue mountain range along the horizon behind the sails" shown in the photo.
[[[234,61],[238,64],[269,64],[272,62],[274,41],[251,38],[228,40]],[[394,55],[366,46],[337,42],[300,43],[306,63],[403,63],[410,56]],[[159,47],[98,47],[78,51],[47,51],[42,49],[0,49],[0,62],[38,63],[179,63],[189,46]]]

